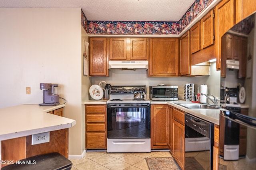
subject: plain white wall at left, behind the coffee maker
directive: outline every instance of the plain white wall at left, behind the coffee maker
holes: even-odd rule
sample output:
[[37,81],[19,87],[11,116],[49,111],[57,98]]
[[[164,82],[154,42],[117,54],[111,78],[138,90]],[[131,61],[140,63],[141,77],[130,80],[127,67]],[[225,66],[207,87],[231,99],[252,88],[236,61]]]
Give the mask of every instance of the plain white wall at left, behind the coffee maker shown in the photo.
[[0,8],[0,73],[0,108],[42,103],[39,84],[59,84],[64,117],[76,120],[69,154],[81,154],[81,8]]

